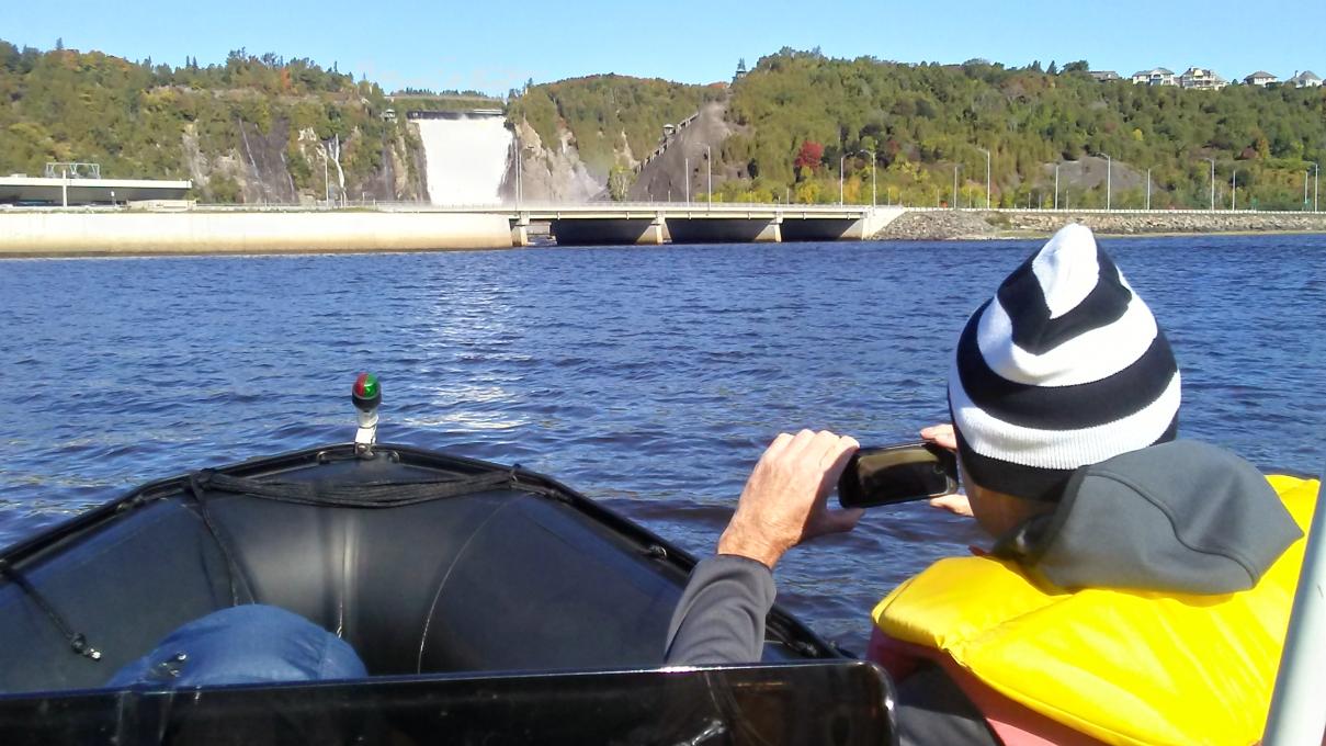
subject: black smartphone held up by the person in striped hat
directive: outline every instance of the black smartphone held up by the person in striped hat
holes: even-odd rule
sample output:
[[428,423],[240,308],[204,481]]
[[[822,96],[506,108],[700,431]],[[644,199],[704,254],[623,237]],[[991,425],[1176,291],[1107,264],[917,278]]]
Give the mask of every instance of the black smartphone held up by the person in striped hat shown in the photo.
[[838,504],[878,507],[957,491],[957,455],[935,443],[859,449],[838,478]]

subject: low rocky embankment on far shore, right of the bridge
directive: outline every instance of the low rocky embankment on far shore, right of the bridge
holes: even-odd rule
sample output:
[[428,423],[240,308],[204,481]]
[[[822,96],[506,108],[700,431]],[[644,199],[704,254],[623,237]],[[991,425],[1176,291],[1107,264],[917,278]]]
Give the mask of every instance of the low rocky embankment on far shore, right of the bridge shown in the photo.
[[1067,223],[1105,235],[1326,234],[1326,212],[1102,212],[1052,210],[927,210],[906,212],[878,240],[972,240],[1050,235]]

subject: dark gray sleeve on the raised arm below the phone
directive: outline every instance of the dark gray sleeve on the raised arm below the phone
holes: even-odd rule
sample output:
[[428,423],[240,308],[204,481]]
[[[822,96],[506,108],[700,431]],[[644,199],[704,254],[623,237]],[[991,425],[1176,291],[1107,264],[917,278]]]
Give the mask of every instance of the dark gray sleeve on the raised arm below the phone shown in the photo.
[[696,564],[668,625],[667,664],[758,662],[774,595],[773,572],[756,560],[719,555]]

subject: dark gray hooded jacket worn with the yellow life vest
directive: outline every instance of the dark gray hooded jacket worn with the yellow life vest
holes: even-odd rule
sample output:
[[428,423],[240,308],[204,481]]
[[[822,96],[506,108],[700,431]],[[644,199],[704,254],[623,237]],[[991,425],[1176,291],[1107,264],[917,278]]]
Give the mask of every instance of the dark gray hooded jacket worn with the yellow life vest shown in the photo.
[[[1066,589],[1229,593],[1256,585],[1301,536],[1256,467],[1215,446],[1174,441],[1077,470],[1058,507],[1001,536],[994,554]],[[773,597],[773,573],[757,561],[720,555],[699,563],[672,615],[668,664],[760,660]],[[903,743],[994,743],[937,673],[899,688]]]

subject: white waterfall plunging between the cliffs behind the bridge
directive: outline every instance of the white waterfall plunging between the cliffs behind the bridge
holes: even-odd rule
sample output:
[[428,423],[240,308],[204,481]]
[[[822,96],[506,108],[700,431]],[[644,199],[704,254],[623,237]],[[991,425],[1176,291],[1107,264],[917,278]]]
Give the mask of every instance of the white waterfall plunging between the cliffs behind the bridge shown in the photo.
[[428,162],[428,202],[434,204],[499,204],[497,194],[511,158],[512,133],[505,117],[463,115],[415,119]]

